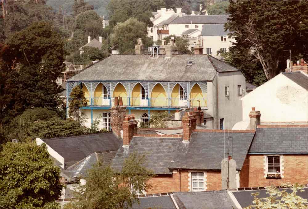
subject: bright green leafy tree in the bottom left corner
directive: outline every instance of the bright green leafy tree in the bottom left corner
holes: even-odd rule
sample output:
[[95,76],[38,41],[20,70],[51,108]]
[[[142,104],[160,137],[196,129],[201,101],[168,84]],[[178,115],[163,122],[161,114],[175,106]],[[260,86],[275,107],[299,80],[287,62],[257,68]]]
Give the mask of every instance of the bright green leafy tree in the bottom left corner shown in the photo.
[[60,169],[49,158],[44,144],[8,142],[2,145],[1,207],[55,208],[55,200],[61,195],[62,188]]

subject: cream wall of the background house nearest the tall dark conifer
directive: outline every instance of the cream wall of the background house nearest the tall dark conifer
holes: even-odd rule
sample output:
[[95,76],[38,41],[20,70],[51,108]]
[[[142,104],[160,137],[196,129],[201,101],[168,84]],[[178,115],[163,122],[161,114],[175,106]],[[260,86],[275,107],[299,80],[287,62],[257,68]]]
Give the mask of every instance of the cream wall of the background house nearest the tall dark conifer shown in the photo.
[[226,48],[226,51],[229,51],[229,47],[232,46],[232,42],[236,42],[235,39],[228,38],[227,35],[223,36],[227,38],[226,41],[221,41],[220,36],[202,36],[202,46],[203,46],[203,54],[206,54],[206,48],[212,49],[212,55],[216,56],[217,51],[221,48]]

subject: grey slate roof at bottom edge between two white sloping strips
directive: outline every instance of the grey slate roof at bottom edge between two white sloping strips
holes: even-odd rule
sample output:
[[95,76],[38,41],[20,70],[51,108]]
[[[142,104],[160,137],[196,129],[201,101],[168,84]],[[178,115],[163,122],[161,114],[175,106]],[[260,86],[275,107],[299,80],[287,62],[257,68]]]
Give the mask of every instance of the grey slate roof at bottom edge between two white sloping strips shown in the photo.
[[233,209],[237,208],[227,190],[201,192],[175,192],[179,209]]

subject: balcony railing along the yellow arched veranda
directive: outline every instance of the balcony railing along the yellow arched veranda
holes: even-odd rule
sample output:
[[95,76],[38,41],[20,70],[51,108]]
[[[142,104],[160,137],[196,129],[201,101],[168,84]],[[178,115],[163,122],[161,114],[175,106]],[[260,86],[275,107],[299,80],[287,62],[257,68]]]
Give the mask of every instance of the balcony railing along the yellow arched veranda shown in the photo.
[[[204,99],[187,99],[184,98],[134,98],[121,97],[124,106],[150,106],[150,107],[206,107]],[[87,106],[111,106],[111,98],[106,97],[86,97]]]

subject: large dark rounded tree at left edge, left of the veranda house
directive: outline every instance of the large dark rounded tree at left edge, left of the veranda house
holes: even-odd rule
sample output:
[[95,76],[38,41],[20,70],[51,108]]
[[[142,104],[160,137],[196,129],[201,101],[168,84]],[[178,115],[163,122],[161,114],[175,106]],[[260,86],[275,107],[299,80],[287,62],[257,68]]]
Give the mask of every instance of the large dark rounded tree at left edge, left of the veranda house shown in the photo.
[[63,88],[55,80],[65,69],[63,44],[48,22],[36,22],[6,39],[6,46],[0,51],[1,122],[26,108],[59,107]]

